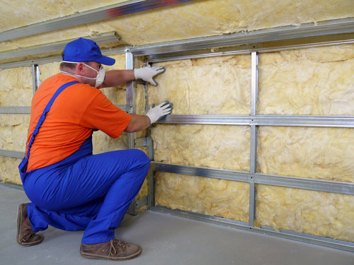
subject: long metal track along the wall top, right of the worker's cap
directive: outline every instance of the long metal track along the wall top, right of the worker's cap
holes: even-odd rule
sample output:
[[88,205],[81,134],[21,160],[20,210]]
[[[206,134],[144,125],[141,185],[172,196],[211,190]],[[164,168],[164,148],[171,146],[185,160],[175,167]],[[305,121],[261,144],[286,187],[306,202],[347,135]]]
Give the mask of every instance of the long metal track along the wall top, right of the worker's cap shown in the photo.
[[130,52],[136,57],[147,56],[147,61],[154,62],[179,59],[179,57],[200,58],[235,53],[269,52],[348,42],[354,42],[354,18],[142,45],[132,47]]

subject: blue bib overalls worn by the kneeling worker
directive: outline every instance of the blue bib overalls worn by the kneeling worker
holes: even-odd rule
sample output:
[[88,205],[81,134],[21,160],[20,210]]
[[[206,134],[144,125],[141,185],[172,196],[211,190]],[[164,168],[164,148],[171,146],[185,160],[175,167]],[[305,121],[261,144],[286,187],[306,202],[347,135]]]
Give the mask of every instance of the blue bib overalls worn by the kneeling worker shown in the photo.
[[103,243],[115,238],[131,201],[147,175],[150,160],[139,150],[112,151],[92,155],[92,134],[78,151],[63,160],[26,172],[30,148],[45,115],[57,96],[79,82],[61,86],[42,113],[19,165],[23,188],[32,203],[28,218],[35,232],[48,225],[62,230],[85,230],[83,244]]

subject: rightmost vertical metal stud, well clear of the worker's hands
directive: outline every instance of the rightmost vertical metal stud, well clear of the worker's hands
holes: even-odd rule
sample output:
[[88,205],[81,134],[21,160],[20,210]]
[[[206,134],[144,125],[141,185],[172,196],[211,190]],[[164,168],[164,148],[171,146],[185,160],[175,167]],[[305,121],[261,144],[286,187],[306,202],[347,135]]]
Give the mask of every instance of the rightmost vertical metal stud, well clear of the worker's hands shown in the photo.
[[[251,115],[255,116],[258,98],[258,54],[251,54]],[[250,172],[257,172],[257,126],[251,125],[251,165]],[[256,216],[256,187],[254,179],[250,179],[249,184],[249,226],[253,227]]]

